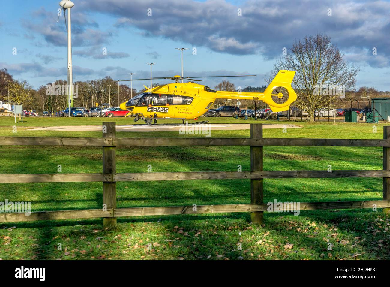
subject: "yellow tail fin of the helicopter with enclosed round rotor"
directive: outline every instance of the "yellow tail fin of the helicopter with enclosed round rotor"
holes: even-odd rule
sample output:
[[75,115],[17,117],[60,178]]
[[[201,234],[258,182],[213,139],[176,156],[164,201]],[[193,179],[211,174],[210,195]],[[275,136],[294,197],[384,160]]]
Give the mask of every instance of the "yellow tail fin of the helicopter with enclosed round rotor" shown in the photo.
[[[280,94],[280,92],[282,92],[283,97],[281,97],[281,99],[283,99],[287,94],[288,98],[286,99],[286,101],[288,100],[290,103],[294,102],[296,100],[296,93],[291,87],[294,75],[295,71],[280,70],[275,76],[275,78],[273,78],[272,82],[268,85],[267,89],[264,91],[264,95],[271,97],[273,102],[275,102],[275,100],[277,100],[275,95],[278,93]],[[284,89],[280,89],[280,87]],[[286,90],[287,93],[285,93]],[[275,102],[275,104],[279,105],[280,103]],[[269,105],[269,108],[273,112],[282,112],[287,111],[290,108],[290,105],[286,105],[284,107],[275,107]]]

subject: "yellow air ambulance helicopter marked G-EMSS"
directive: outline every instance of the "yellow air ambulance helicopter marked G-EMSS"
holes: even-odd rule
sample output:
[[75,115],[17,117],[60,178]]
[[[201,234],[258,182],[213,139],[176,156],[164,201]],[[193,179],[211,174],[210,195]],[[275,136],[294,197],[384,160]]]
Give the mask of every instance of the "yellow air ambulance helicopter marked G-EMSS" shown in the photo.
[[[154,119],[198,119],[207,112],[216,99],[261,100],[269,105],[273,112],[287,111],[296,100],[296,93],[291,87],[295,71],[280,70],[264,93],[245,93],[215,91],[198,83],[180,83],[180,80],[202,81],[194,78],[214,77],[253,77],[212,76],[212,77],[156,77],[137,80],[170,79],[174,83],[148,88],[137,96],[121,103],[122,110],[129,111],[126,116],[135,115],[134,121]],[[120,80],[130,81],[130,80]],[[136,81],[136,80],[133,80]],[[156,121],[155,121],[156,123]]]

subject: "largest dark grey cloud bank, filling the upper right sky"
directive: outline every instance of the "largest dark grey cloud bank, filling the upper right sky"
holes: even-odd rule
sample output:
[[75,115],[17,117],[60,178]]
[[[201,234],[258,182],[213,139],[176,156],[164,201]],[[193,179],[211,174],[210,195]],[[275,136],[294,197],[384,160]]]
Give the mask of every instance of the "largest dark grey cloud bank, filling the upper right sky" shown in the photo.
[[[233,5],[224,0],[133,0],[129,5],[124,0],[83,0],[78,5],[116,17],[117,27],[137,27],[145,36],[206,46],[215,52],[272,59],[295,39],[320,32],[331,36],[345,53],[376,47],[382,59],[390,57],[390,3],[386,1],[249,0]],[[152,9],[151,16],[147,9]],[[366,56],[361,59],[371,66],[389,66],[380,57]]]

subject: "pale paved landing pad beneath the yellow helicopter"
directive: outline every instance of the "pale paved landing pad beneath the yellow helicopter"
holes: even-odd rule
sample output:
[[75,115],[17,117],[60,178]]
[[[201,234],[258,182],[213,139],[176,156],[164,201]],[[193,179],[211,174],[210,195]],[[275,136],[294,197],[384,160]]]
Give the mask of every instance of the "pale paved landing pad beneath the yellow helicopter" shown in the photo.
[[[167,132],[178,131],[181,127],[151,127],[149,125],[117,125],[117,132]],[[211,124],[211,130],[249,130],[249,124]],[[282,125],[282,124],[263,124],[263,128],[301,128],[296,125]],[[80,131],[100,131],[101,126],[63,126],[63,127],[43,127],[32,128],[31,130],[62,130],[66,132],[80,132]]]

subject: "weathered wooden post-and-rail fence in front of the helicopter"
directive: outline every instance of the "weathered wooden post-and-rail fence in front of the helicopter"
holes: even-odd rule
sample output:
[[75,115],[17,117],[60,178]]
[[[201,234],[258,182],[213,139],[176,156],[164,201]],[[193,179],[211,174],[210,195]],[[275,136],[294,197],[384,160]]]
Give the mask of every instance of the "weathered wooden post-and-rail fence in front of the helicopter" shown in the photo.
[[[118,138],[115,122],[103,123],[102,138],[80,137],[0,137],[0,145],[103,146],[103,173],[0,174],[0,183],[25,182],[103,182],[103,207],[84,210],[56,210],[25,213],[0,213],[0,222],[85,219],[103,217],[104,226],[116,225],[117,217],[168,214],[250,212],[252,223],[262,224],[264,178],[383,178],[383,200],[300,202],[300,210],[383,208],[390,213],[390,126],[383,139],[299,139],[263,138],[262,124],[250,125],[250,138]],[[196,171],[117,173],[117,146],[250,146],[251,171]],[[383,170],[263,170],[263,146],[383,146]],[[117,208],[116,183],[121,181],[250,179],[248,204],[128,207]],[[232,191],[234,192],[234,191]],[[284,203],[285,204],[285,203]],[[287,202],[288,204],[288,202]]]

